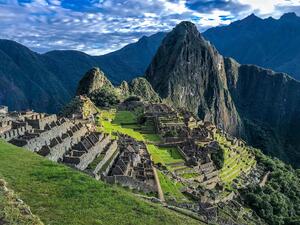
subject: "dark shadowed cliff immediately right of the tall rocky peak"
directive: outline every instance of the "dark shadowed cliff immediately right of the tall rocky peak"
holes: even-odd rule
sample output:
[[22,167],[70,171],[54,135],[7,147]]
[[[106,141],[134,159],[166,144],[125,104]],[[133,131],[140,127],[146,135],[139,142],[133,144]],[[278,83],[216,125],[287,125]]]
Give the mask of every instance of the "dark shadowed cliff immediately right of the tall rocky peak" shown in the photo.
[[283,73],[225,59],[231,96],[255,147],[299,166],[300,83]]

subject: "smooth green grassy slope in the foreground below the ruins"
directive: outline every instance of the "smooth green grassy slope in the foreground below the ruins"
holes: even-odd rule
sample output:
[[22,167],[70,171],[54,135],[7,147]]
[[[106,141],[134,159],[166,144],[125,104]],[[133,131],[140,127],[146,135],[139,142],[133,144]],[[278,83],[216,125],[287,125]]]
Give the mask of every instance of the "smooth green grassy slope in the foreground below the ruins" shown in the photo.
[[0,177],[45,224],[199,224],[3,141]]

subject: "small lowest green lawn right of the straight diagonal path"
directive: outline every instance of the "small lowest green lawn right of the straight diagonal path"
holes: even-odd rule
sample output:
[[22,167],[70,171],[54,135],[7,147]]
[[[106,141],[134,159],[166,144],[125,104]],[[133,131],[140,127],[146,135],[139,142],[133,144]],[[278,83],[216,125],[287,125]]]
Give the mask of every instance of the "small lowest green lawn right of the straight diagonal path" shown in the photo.
[[174,183],[166,175],[159,170],[157,171],[160,180],[161,188],[164,192],[165,198],[175,198],[176,201],[186,201],[186,197],[181,193],[180,189],[183,187],[180,183]]

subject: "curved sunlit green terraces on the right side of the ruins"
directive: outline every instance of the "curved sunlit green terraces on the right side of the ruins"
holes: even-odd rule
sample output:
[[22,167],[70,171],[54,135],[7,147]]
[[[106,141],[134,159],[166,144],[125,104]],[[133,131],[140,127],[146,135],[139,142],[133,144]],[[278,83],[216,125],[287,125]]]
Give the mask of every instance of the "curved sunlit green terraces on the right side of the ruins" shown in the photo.
[[229,148],[231,143],[220,134],[216,135],[217,141],[224,150],[224,166],[221,169],[220,178],[225,184],[230,184],[238,178],[242,172],[247,173],[256,163],[249,149],[245,147],[233,147],[239,153]]

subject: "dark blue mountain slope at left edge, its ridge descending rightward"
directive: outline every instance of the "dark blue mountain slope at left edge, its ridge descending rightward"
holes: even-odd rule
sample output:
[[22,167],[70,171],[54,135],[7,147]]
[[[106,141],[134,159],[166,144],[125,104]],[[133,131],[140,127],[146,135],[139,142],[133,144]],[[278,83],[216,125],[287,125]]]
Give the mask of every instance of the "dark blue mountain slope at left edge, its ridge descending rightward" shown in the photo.
[[52,112],[69,97],[39,55],[16,42],[0,41],[0,78],[0,104],[12,109]]

